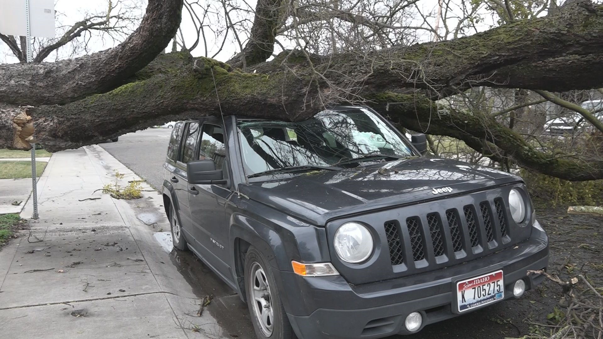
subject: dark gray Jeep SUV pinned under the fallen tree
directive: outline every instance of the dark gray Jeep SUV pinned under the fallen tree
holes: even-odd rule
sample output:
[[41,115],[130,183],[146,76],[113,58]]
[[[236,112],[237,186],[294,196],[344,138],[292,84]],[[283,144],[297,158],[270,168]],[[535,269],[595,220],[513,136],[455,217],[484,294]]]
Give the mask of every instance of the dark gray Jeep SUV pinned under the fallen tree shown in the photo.
[[548,238],[522,179],[412,139],[367,107],[178,122],[174,247],[238,292],[258,338],[411,334],[539,284]]

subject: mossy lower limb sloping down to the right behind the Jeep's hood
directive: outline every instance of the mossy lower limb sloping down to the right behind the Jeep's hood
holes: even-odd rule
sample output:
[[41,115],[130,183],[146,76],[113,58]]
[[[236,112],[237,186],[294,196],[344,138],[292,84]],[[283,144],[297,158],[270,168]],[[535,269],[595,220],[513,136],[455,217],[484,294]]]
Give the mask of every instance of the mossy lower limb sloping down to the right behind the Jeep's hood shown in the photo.
[[[516,131],[499,124],[481,112],[443,110],[428,98],[397,93],[380,93],[370,104],[394,122],[415,131],[446,135],[466,142],[476,151],[506,151],[520,166],[566,180],[603,178],[603,160],[592,160],[567,154],[551,154],[538,150]],[[427,123],[429,122],[429,123]],[[500,161],[502,152],[491,155]]]

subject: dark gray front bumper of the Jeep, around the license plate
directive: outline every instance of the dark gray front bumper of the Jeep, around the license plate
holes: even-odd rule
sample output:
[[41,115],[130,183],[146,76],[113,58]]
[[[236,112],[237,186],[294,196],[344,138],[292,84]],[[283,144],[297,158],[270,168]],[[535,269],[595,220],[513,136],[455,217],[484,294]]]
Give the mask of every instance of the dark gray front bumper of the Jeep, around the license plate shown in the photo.
[[362,285],[350,285],[341,276],[300,277],[280,271],[280,288],[292,298],[283,303],[301,339],[382,338],[409,334],[404,320],[411,312],[423,315],[421,329],[459,315],[453,293],[458,280],[502,269],[505,299],[514,298],[518,279],[531,290],[544,276],[528,276],[526,271],[546,268],[548,259],[546,233],[534,228],[517,246],[441,270]]

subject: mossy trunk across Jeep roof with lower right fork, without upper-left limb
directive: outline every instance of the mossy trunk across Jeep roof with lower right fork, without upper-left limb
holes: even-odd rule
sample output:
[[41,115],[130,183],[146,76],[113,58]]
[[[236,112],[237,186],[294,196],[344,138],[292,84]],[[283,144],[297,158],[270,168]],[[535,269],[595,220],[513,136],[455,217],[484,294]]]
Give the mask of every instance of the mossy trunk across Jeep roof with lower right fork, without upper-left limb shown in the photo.
[[[428,133],[454,136],[481,150],[500,149],[523,166],[564,179],[601,179],[600,161],[545,153],[491,117],[441,111],[416,91],[448,95],[476,84],[555,91],[601,87],[602,37],[603,17],[597,8],[578,2],[554,16],[447,42],[309,59],[285,53],[256,65],[256,74],[186,53],[159,55],[115,90],[62,106],[34,107],[33,139],[49,150],[61,150],[168,118],[217,116],[219,104],[226,115],[301,120],[334,101],[369,99],[411,129],[425,131],[429,125]],[[556,70],[556,81],[534,77],[545,68]],[[22,136],[17,128],[8,128],[20,111],[14,105],[0,107],[0,148],[16,147],[13,136]]]

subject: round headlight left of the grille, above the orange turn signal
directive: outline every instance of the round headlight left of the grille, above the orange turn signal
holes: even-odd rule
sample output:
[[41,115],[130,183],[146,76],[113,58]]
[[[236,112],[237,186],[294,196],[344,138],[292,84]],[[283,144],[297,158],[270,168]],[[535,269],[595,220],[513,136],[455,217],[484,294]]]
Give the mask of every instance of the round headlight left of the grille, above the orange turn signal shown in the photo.
[[373,236],[362,224],[345,223],[335,232],[333,245],[339,258],[358,264],[373,253]]

